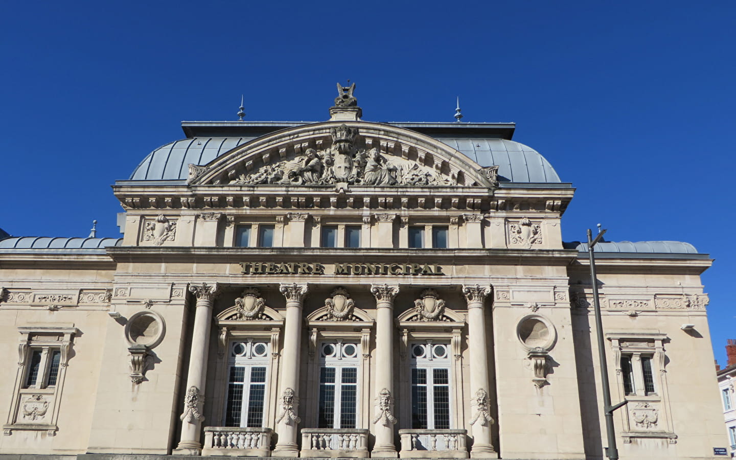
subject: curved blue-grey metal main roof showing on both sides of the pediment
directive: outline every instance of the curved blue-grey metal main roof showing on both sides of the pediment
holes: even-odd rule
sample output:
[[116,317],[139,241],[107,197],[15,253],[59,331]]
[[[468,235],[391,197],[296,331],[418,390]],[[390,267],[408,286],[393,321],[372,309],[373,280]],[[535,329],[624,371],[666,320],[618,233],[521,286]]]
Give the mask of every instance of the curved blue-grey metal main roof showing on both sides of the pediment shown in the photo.
[[[171,142],[146,156],[130,175],[130,180],[184,180],[188,176],[188,164],[204,165],[252,139],[198,137]],[[498,166],[499,182],[562,182],[551,164],[524,144],[499,138],[436,139],[459,150],[480,166]]]

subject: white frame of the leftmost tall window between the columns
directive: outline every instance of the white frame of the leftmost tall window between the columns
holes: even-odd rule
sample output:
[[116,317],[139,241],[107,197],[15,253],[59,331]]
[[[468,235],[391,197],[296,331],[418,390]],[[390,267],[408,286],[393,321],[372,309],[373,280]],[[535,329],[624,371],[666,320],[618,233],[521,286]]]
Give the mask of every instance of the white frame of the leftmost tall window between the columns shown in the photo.
[[[256,353],[256,347],[263,345],[265,347],[264,353]],[[243,353],[238,351],[239,346],[244,347]],[[237,352],[237,353],[236,353]],[[227,373],[225,378],[227,380],[227,389],[225,389],[224,397],[224,410],[222,414],[222,425],[227,425],[228,411],[230,410],[230,385],[233,382],[230,381],[230,372],[233,367],[243,367],[244,377],[242,382],[242,394],[241,394],[241,412],[240,422],[238,428],[264,428],[267,422],[267,414],[269,411],[269,377],[271,375],[271,344],[269,341],[264,339],[242,339],[233,340],[228,344],[227,347],[228,361],[227,361]],[[252,382],[252,369],[254,367],[265,367],[265,378],[263,382]],[[240,383],[240,382],[238,382]],[[263,385],[263,410],[261,413],[261,425],[258,427],[248,427],[248,411],[250,392],[252,385],[262,384]]]

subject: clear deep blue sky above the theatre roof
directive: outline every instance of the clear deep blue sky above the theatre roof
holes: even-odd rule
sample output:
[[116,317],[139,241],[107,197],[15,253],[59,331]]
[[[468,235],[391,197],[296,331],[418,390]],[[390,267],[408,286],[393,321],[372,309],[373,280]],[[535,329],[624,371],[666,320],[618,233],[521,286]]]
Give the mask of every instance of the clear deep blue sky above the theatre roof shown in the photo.
[[736,338],[733,1],[7,1],[0,227],[118,236],[110,191],[181,120],[514,121],[577,188],[565,240],[688,241]]

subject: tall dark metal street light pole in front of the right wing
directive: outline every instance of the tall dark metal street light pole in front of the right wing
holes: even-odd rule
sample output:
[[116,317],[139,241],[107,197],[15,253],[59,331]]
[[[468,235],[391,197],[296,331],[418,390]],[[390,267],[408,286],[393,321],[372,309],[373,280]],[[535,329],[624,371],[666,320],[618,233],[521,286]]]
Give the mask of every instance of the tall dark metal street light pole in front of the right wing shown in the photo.
[[603,320],[601,319],[601,304],[598,302],[598,277],[595,275],[595,255],[593,247],[601,241],[606,230],[601,230],[598,224],[598,235],[592,238],[592,232],[588,229],[588,257],[590,258],[590,285],[593,289],[593,311],[595,311],[595,332],[598,336],[598,358],[601,360],[601,386],[603,386],[604,417],[606,420],[606,435],[608,436],[608,447],[606,456],[611,460],[618,460],[618,449],[616,448],[616,431],[613,425],[613,412],[623,407],[629,401],[623,400],[615,406],[611,406],[611,388],[608,381],[608,364],[606,364],[606,342],[603,336]]

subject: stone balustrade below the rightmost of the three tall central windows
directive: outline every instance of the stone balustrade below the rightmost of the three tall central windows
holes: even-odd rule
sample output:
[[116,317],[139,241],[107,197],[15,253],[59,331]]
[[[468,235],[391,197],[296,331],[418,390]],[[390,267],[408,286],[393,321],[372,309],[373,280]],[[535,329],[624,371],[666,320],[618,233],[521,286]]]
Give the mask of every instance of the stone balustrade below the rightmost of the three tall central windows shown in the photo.
[[399,430],[402,458],[467,459],[467,430]]

